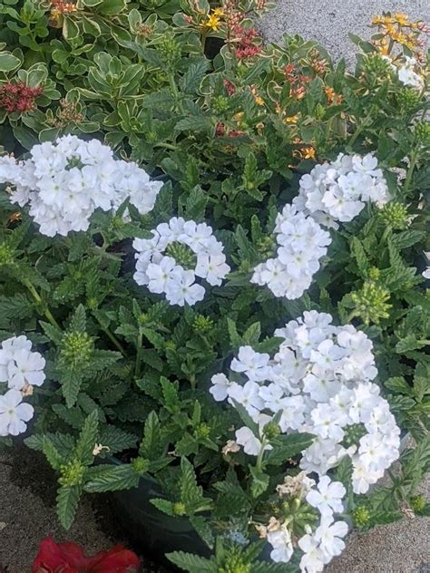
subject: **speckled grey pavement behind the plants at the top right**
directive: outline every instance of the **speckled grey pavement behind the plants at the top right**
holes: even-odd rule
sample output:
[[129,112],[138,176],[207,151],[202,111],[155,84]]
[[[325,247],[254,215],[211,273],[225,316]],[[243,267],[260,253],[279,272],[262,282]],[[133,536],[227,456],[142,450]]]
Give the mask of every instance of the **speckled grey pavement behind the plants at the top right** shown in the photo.
[[388,11],[430,23],[430,0],[278,0],[276,10],[262,18],[259,28],[269,42],[279,41],[285,33],[300,34],[352,63],[354,46],[347,34],[368,38],[372,16]]

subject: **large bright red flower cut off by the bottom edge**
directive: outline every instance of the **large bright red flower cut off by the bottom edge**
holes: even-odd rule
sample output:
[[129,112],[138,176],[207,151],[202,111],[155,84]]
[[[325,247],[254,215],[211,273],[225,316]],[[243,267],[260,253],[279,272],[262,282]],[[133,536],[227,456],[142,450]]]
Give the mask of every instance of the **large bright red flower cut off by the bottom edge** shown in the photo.
[[41,541],[32,572],[133,573],[138,567],[137,555],[121,545],[100,551],[94,557],[85,557],[83,549],[75,543],[55,543],[54,539],[46,538]]

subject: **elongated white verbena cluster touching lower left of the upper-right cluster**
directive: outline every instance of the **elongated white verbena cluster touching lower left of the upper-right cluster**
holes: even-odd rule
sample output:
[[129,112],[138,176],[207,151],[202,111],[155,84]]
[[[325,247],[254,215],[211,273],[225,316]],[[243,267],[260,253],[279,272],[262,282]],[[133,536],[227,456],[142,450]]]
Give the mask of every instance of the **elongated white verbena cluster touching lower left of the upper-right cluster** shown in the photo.
[[310,286],[331,238],[295,205],[286,205],[278,214],[275,234],[279,245],[277,257],[255,267],[250,280],[269,286],[275,296],[298,298]]

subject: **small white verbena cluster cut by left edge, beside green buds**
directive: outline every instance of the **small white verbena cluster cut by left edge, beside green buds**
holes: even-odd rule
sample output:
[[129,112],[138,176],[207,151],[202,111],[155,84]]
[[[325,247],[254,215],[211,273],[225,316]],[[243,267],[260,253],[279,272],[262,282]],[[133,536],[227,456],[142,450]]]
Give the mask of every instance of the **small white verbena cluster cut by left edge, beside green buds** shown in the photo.
[[0,436],[25,432],[25,422],[33,418],[34,408],[23,398],[32,394],[33,386],[44,384],[45,361],[31,348],[25,336],[8,338],[0,347],[0,383],[9,388],[0,394]]

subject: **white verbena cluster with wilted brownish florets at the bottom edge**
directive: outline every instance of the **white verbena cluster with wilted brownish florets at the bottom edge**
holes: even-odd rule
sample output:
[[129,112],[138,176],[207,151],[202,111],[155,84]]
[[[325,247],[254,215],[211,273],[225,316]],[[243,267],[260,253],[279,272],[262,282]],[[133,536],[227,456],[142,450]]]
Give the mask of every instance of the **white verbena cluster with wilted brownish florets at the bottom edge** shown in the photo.
[[[306,526],[305,535],[298,539],[298,548],[303,552],[299,567],[303,573],[322,571],[332,558],[345,549],[343,538],[347,535],[347,522],[336,520],[335,514],[344,510],[343,499],[347,490],[340,481],[331,481],[327,475],[322,476],[316,485],[305,471],[301,471],[297,476],[286,476],[277,491],[281,500],[284,496],[299,503],[306,500],[318,511],[318,524],[314,528]],[[268,526],[259,528],[259,532],[273,548],[270,558],[278,563],[288,563],[294,553],[288,521],[281,522],[272,517]]]

